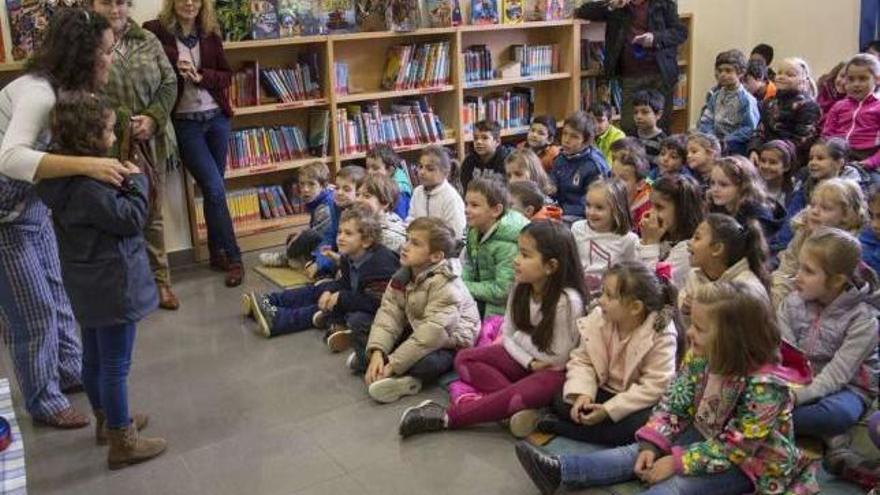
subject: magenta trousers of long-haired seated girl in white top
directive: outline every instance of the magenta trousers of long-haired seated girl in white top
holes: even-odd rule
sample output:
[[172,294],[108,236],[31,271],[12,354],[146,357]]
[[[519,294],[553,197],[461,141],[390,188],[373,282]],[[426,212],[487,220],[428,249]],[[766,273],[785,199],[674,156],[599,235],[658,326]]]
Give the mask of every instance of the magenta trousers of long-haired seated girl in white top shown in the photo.
[[561,370],[530,372],[523,368],[502,344],[459,351],[455,370],[463,382],[483,395],[450,404],[446,411],[450,428],[499,421],[523,409],[547,406],[565,383]]

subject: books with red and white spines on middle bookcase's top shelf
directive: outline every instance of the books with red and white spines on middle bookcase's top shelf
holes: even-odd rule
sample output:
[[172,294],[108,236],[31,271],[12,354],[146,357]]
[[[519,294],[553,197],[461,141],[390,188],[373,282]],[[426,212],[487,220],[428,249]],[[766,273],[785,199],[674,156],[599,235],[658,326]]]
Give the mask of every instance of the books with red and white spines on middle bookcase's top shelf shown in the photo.
[[430,88],[449,84],[449,42],[394,45],[385,57],[382,89]]

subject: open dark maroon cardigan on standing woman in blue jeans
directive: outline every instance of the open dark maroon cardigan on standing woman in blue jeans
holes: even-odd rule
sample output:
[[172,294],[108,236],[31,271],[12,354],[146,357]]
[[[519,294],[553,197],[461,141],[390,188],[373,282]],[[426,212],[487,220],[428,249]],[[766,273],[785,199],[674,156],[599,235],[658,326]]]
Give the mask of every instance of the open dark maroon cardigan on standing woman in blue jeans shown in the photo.
[[[144,23],[144,29],[151,31],[159,38],[165,55],[177,72],[177,102],[183,95],[183,77],[177,71],[177,38],[171,31],[165,28],[158,20],[147,21]],[[232,81],[232,69],[229,68],[229,62],[226,61],[226,54],[223,52],[223,40],[217,33],[202,34],[199,39],[199,56],[201,57],[201,68],[199,74],[202,76],[202,82],[199,87],[206,89],[214,101],[223,110],[227,117],[232,117],[232,105],[229,104],[229,84]],[[174,104],[177,107],[177,103]]]

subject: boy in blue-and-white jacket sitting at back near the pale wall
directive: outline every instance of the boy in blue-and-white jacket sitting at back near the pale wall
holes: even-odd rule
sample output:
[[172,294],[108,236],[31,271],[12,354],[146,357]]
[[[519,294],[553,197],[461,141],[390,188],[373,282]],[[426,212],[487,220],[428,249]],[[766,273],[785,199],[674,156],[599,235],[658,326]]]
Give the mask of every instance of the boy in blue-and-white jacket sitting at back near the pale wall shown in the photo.
[[758,126],[758,102],[740,82],[746,71],[746,56],[739,50],[715,57],[718,86],[706,95],[697,126],[700,132],[716,136],[726,155],[746,155],[749,139]]

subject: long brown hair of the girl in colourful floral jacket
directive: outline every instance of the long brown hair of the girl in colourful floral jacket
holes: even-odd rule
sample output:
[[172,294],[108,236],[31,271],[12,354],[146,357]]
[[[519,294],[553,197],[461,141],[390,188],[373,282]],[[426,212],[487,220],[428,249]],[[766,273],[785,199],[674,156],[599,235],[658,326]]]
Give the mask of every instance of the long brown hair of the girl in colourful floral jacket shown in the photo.
[[782,337],[776,315],[758,288],[718,281],[697,287],[693,298],[706,306],[712,321],[706,346],[710,372],[746,376],[779,362]]

